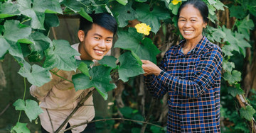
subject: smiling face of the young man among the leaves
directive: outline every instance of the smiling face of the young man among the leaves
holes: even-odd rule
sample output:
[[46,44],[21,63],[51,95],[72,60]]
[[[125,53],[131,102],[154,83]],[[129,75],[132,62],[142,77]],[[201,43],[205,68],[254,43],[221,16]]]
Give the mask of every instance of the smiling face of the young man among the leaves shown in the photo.
[[110,30],[102,28],[100,25],[92,24],[92,29],[87,35],[82,30],[78,31],[80,40],[79,52],[82,60],[100,60],[110,51],[113,42],[113,35]]

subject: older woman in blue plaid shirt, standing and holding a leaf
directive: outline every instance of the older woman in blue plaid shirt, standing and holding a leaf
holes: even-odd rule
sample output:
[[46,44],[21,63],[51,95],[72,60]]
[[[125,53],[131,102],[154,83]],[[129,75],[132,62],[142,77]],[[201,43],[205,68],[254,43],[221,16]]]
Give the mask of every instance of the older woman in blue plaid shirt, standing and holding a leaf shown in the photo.
[[188,0],[178,9],[184,37],[156,64],[142,60],[145,82],[156,97],[169,95],[168,132],[220,132],[220,47],[202,35],[208,6]]

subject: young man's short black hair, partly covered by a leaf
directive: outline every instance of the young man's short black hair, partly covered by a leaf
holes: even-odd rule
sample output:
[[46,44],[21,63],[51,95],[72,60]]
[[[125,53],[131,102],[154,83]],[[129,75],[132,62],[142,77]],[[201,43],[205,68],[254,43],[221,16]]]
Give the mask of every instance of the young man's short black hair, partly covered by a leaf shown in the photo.
[[117,32],[117,21],[109,13],[92,13],[89,14],[92,17],[92,21],[87,21],[87,19],[80,17],[79,30],[83,30],[85,35],[92,29],[92,23],[100,25],[102,28],[110,30],[112,33]]

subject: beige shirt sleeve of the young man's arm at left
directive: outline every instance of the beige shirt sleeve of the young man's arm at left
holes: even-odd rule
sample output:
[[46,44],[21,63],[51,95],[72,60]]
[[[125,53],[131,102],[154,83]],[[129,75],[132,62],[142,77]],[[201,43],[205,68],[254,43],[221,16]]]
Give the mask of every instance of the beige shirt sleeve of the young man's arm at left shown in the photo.
[[[53,69],[53,71],[58,71],[57,68]],[[43,86],[35,86],[32,85],[29,88],[29,91],[31,93],[31,96],[37,98],[38,100],[43,100],[49,93],[49,91],[53,88],[53,86],[55,86],[56,84],[58,84],[62,79],[58,76],[56,76],[55,74],[51,73],[52,76],[52,80],[49,81],[48,83],[43,84]],[[57,72],[57,74],[59,75],[63,75],[60,73],[60,71]]]

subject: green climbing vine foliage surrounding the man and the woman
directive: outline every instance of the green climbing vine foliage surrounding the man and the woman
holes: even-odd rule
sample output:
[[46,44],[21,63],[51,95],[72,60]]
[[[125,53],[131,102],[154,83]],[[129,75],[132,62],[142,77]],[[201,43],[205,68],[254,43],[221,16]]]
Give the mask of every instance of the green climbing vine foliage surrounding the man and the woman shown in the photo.
[[[255,90],[252,88],[255,85],[252,75],[255,70],[256,1],[204,1],[210,10],[210,22],[204,35],[222,48],[224,57],[221,87],[222,130],[250,132],[255,129],[253,117],[256,108]],[[66,71],[80,69],[82,74],[73,76],[76,90],[94,86],[106,100],[107,91],[117,88],[113,91],[115,100],[112,117],[153,122],[163,127],[111,120],[97,125],[98,129],[109,128],[112,132],[165,132],[166,96],[162,100],[152,100],[148,93],[142,91],[144,86],[143,76],[139,76],[143,74],[140,59],[149,59],[157,64],[164,52],[181,40],[176,28],[176,14],[181,2],[1,0],[0,59],[4,60],[6,54],[10,54],[21,66],[18,74],[36,86],[50,81],[50,69],[55,67]],[[70,47],[68,41],[50,40],[48,37],[50,28],[58,26],[60,16],[80,14],[93,21],[88,13],[101,12],[111,13],[119,23],[119,39],[114,45],[119,52],[102,59],[99,67],[90,69],[88,66],[91,62],[76,61],[73,56],[79,53]],[[150,25],[150,35],[144,37],[137,33],[134,25],[140,22]],[[248,75],[250,72],[252,75]],[[252,80],[249,86],[247,79]],[[28,88],[25,81],[24,83],[26,92]],[[234,99],[237,102],[234,103]],[[26,112],[31,122],[41,113],[36,101],[25,99],[25,96],[23,99],[17,98],[14,106],[16,110]],[[30,132],[26,127],[27,123],[19,119],[20,116],[21,113],[11,132]]]

